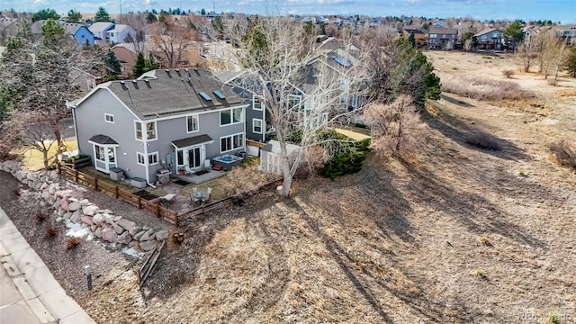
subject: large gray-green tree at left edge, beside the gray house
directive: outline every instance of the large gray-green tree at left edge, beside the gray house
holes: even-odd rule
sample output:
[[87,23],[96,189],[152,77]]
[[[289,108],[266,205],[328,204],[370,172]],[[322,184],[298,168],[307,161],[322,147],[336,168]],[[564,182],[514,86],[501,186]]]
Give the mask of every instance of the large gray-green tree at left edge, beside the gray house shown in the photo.
[[[48,23],[47,23],[48,25]],[[46,25],[45,25],[46,26]],[[21,39],[10,59],[2,61],[0,86],[17,89],[14,109],[49,124],[61,146],[58,121],[67,116],[67,101],[81,94],[77,79],[103,66],[103,53],[78,47],[66,32],[46,31],[38,41]],[[12,121],[4,121],[6,125]]]

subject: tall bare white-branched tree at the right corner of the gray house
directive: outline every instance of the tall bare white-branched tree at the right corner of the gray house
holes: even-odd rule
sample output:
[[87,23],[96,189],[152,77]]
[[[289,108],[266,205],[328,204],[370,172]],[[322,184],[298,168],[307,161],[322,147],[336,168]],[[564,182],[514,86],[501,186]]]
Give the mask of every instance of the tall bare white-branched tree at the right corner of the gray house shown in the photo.
[[[229,24],[227,34],[238,44],[233,54],[244,72],[234,85],[266,107],[280,143],[283,185],[279,193],[284,196],[290,193],[297,170],[307,165],[307,157],[315,156],[308,150],[333,140],[322,139],[318,130],[354,113],[347,111],[346,103],[365,80],[363,58],[353,59],[342,49],[338,65],[335,58],[315,53],[312,42],[294,41],[301,40],[303,32],[302,23],[274,17]],[[335,66],[323,64],[326,59]],[[300,148],[289,154],[291,141]],[[337,150],[335,144],[329,147]]]

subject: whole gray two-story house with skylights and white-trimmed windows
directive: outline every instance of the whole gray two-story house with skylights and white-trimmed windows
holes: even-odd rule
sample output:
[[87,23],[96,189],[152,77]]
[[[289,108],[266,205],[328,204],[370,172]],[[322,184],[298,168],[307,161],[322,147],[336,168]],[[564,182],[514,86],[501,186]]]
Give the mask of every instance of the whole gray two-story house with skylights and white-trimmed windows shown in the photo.
[[160,169],[199,170],[245,147],[247,105],[205,69],[157,69],[106,82],[69,106],[78,149],[96,170],[119,167],[148,184]]

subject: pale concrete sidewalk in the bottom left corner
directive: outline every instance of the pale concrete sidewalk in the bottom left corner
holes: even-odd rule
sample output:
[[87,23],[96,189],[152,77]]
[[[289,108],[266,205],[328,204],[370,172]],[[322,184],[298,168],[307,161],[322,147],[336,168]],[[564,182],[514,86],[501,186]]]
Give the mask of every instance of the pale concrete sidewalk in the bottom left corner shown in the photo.
[[0,323],[94,323],[0,208]]

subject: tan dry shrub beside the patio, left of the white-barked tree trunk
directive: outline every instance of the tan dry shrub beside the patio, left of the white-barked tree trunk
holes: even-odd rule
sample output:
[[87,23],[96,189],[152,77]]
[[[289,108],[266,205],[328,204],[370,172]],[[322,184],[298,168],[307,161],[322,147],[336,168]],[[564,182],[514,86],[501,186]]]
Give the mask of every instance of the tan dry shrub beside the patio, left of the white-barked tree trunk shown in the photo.
[[227,196],[256,192],[262,185],[274,181],[277,175],[258,170],[257,164],[234,167],[220,181]]

